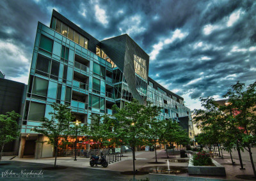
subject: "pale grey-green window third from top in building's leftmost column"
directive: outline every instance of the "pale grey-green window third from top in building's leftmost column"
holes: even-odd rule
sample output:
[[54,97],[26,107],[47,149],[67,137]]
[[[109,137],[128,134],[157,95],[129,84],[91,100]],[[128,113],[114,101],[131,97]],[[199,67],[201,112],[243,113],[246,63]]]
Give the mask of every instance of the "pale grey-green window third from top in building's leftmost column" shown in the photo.
[[48,90],[48,80],[36,77],[34,78],[32,98],[46,100]]

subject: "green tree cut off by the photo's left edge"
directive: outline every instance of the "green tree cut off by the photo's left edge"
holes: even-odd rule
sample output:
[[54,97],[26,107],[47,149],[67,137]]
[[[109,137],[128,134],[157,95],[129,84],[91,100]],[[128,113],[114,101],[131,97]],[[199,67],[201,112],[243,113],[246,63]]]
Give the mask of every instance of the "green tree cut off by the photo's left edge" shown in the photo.
[[19,126],[17,119],[20,117],[18,113],[7,112],[6,115],[0,115],[0,161],[2,159],[4,145],[9,143],[19,136]]

